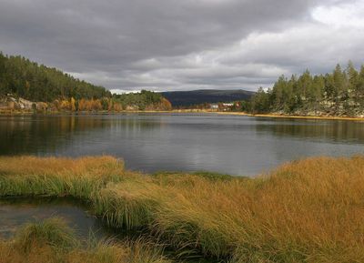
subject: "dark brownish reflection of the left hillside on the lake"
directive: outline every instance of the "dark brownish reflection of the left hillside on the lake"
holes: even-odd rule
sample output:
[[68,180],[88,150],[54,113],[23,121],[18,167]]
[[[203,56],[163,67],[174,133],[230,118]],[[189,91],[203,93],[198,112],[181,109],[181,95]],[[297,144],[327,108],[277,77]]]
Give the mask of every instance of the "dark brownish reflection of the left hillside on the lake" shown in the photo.
[[162,124],[112,116],[0,116],[0,154],[56,154],[78,134],[103,130],[128,134],[156,125]]

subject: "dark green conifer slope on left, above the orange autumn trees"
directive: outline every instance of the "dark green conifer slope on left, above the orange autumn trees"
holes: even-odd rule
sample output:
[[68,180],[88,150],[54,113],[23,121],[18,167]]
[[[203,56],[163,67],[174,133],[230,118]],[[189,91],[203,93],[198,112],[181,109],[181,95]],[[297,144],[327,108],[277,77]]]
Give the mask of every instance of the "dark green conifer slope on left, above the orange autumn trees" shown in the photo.
[[59,98],[97,99],[111,96],[106,88],[78,80],[56,68],[38,65],[22,56],[4,56],[0,53],[0,96],[6,94],[44,102]]

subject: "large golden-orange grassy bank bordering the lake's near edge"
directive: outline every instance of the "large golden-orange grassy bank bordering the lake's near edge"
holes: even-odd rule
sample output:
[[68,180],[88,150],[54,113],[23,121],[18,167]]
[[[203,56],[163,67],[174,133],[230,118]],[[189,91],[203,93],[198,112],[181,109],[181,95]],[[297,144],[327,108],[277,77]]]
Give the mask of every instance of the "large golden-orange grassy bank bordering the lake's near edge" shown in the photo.
[[126,171],[114,157],[0,157],[0,195],[72,196],[107,225],[177,252],[240,262],[364,262],[364,157],[316,157],[268,175]]

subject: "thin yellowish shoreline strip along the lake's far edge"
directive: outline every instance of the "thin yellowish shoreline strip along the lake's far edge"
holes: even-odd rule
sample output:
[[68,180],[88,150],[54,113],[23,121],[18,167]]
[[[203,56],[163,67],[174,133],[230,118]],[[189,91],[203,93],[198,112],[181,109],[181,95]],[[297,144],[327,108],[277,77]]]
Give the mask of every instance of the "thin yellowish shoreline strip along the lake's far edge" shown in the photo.
[[250,114],[246,112],[228,112],[228,111],[208,111],[200,109],[174,109],[174,110],[132,110],[132,111],[95,111],[95,112],[70,112],[70,111],[52,111],[52,112],[32,112],[32,111],[0,111],[0,116],[29,116],[29,115],[117,115],[117,114],[138,114],[138,113],[203,113],[217,114],[227,116],[253,116],[253,117],[274,117],[274,118],[293,118],[293,119],[315,119],[315,120],[350,120],[364,121],[360,116],[298,116],[298,115],[278,115],[278,114]]

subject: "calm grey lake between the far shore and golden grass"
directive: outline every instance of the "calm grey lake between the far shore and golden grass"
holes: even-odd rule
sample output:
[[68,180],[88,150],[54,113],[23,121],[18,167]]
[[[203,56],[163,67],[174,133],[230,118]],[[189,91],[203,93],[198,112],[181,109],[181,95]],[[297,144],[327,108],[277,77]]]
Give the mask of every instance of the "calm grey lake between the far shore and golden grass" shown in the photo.
[[364,122],[196,114],[0,116],[0,155],[113,155],[126,167],[255,175],[288,160],[364,154]]

